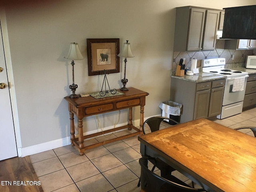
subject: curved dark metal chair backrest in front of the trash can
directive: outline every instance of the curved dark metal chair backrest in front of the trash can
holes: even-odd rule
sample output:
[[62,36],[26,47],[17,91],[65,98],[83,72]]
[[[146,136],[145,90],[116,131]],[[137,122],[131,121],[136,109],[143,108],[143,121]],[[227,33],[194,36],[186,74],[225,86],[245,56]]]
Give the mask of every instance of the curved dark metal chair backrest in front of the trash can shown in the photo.
[[144,122],[144,124],[143,124],[143,126],[142,126],[143,134],[145,134],[144,127],[145,127],[146,124],[148,124],[148,126],[149,126],[151,132],[158,131],[159,128],[160,128],[160,124],[161,124],[161,122],[162,122],[164,119],[167,119],[167,120],[169,120],[169,122],[171,121],[171,122],[173,122],[174,124],[179,124],[179,123],[176,122],[175,120],[170,119],[170,118],[167,118],[167,117],[158,117],[158,116],[157,116],[157,117],[150,117],[150,118],[148,118],[148,119]]

